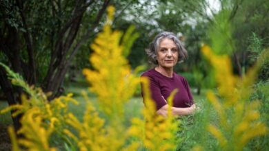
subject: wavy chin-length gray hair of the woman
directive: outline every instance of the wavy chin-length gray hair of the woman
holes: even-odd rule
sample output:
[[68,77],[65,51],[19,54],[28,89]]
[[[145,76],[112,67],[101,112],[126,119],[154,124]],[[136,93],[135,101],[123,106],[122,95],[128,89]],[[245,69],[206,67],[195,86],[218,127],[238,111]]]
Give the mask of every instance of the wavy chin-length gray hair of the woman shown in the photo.
[[161,41],[164,38],[169,38],[174,41],[175,45],[177,45],[177,51],[179,52],[179,59],[177,62],[181,62],[184,59],[188,58],[188,52],[181,44],[180,40],[177,38],[177,36],[172,32],[161,32],[155,36],[154,40],[150,43],[150,47],[146,49],[146,53],[148,54],[148,58],[150,59],[150,62],[152,62],[155,65],[158,65],[157,61],[157,50],[159,48],[159,45]]

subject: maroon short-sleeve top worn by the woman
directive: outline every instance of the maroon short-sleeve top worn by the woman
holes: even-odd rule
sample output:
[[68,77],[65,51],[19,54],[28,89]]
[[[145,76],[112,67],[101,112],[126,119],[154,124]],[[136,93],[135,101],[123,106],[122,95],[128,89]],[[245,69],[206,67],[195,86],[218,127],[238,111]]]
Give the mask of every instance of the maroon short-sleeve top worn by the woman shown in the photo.
[[[141,77],[147,77],[150,80],[151,97],[156,103],[157,110],[167,104],[166,100],[174,89],[178,89],[173,100],[174,107],[186,108],[194,103],[188,81],[175,72],[172,78],[169,78],[155,69],[150,69],[144,72]],[[141,86],[143,97],[143,84]]]

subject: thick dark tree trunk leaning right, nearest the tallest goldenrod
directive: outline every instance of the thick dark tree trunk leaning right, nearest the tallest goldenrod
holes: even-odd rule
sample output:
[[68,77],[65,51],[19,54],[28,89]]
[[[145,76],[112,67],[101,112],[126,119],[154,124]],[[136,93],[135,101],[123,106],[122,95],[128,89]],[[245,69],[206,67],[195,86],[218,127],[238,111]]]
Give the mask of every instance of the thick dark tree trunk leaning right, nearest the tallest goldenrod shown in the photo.
[[[85,35],[82,36],[81,39],[77,40],[77,44],[74,46],[72,51],[70,51],[70,48],[72,47],[72,44],[74,44],[74,38],[77,36],[77,32],[79,31],[79,26],[81,24],[81,19],[83,17],[83,13],[81,13],[81,11],[85,12],[86,8],[83,8],[83,10],[81,10],[82,8],[80,9],[80,16],[78,14],[74,14],[74,16],[77,16],[77,19],[72,18],[72,23],[68,21],[70,29],[68,30],[68,28],[63,28],[66,30],[66,33],[63,32],[63,29],[61,32],[59,32],[59,36],[61,37],[57,40],[54,51],[52,51],[50,67],[42,84],[43,91],[52,92],[52,95],[48,97],[49,100],[52,100],[54,97],[57,97],[63,93],[63,86],[61,85],[63,84],[64,76],[68,71],[68,67],[72,61],[72,58],[74,57],[74,54],[77,53],[82,43],[90,37],[95,27],[97,27],[101,21],[103,14],[106,12],[106,8],[108,7],[109,3],[110,0],[103,2],[102,8],[99,10],[99,13],[92,23],[92,27]],[[63,27],[66,27],[66,25]],[[65,35],[66,38],[63,39],[63,36]]]

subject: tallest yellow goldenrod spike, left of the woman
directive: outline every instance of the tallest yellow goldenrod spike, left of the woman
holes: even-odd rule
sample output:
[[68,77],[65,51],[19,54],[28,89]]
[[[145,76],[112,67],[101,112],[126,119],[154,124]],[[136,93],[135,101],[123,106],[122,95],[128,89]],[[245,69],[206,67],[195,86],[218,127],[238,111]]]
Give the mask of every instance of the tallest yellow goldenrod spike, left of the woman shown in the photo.
[[137,34],[132,34],[134,27],[131,27],[125,36],[122,32],[112,31],[113,14],[114,8],[108,7],[108,19],[103,32],[99,33],[90,45],[94,51],[90,57],[94,70],[83,69],[83,74],[91,84],[90,91],[97,94],[101,110],[114,122],[122,119],[123,104],[135,93],[139,78],[131,73],[125,58],[130,49],[130,41],[133,42]]

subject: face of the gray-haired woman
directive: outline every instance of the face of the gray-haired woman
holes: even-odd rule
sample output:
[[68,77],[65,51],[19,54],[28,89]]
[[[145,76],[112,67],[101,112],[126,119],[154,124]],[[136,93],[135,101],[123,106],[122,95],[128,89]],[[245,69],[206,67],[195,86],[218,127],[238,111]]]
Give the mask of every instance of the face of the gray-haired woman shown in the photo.
[[179,52],[177,51],[177,45],[174,41],[169,38],[161,40],[157,50],[158,66],[165,69],[172,69],[172,67],[177,64],[178,58]]

